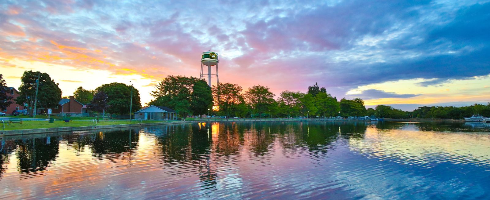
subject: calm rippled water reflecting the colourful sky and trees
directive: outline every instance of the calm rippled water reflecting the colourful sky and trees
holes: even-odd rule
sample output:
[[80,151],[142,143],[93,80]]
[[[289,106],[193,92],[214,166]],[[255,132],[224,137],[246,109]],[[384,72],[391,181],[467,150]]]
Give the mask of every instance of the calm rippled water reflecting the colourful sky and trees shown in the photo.
[[490,123],[202,123],[1,140],[0,199],[490,199]]

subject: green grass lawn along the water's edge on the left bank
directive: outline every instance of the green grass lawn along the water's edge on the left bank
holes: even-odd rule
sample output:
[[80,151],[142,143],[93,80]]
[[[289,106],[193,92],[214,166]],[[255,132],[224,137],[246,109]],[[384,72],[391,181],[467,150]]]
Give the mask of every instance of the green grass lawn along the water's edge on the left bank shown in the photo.
[[[163,122],[159,120],[144,120],[143,123],[154,123]],[[115,125],[115,124],[138,124],[136,120],[129,122],[129,120],[115,120],[115,121],[99,121],[98,126],[102,125]],[[44,129],[44,128],[55,128],[55,127],[80,127],[80,126],[92,126],[92,121],[54,121],[54,123],[48,123],[48,121],[23,121],[21,123],[13,123],[7,125],[5,121],[5,129],[8,130],[23,130],[23,129]],[[3,129],[3,125],[0,122],[0,130]]]

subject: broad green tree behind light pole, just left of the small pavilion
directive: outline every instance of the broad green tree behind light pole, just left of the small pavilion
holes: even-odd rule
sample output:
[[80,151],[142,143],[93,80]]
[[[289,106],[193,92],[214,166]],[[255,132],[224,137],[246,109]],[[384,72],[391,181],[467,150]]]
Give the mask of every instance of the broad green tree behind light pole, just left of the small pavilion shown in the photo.
[[107,109],[110,113],[127,114],[129,112],[139,111],[141,109],[140,93],[138,89],[133,88],[133,107],[129,111],[131,86],[123,83],[110,83],[99,86],[96,92],[104,92],[107,95]]

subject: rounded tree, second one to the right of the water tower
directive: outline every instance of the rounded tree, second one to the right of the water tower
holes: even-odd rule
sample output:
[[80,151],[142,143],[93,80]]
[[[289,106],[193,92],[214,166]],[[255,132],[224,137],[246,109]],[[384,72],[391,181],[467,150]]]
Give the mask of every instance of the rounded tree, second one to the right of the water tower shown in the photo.
[[246,103],[259,113],[259,117],[262,113],[270,111],[270,105],[275,101],[273,97],[274,94],[269,88],[261,85],[252,86],[245,92]]

